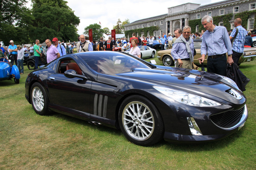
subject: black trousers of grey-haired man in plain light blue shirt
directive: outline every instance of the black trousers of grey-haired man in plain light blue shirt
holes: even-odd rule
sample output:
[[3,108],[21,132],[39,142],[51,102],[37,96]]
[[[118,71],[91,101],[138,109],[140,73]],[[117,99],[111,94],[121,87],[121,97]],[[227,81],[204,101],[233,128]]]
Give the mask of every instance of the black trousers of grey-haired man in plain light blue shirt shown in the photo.
[[227,57],[207,58],[207,72],[226,76],[227,72]]

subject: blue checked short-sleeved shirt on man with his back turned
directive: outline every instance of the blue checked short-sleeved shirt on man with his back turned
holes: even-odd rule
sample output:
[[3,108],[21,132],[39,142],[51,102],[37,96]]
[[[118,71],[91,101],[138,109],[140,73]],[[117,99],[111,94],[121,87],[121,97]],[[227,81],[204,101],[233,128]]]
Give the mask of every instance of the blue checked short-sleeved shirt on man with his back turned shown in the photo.
[[[237,26],[236,28],[238,29],[238,33],[235,40],[233,41],[232,50],[242,53],[244,52],[244,42],[245,37],[247,35],[247,31],[241,25]],[[237,30],[233,29],[230,36],[235,37],[236,32]]]

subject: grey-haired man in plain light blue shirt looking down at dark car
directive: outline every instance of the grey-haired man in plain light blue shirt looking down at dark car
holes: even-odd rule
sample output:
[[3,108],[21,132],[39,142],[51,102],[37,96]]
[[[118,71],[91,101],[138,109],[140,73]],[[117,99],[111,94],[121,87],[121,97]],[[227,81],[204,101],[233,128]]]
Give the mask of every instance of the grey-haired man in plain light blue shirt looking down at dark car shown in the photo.
[[[203,34],[201,58],[198,58],[199,63],[204,62],[205,56],[208,54],[207,71],[225,76],[227,62],[230,65],[234,63],[231,56],[233,53],[232,45],[227,29],[214,25],[210,16],[204,16],[201,22],[206,31]],[[226,52],[228,53],[228,59],[226,58]]]

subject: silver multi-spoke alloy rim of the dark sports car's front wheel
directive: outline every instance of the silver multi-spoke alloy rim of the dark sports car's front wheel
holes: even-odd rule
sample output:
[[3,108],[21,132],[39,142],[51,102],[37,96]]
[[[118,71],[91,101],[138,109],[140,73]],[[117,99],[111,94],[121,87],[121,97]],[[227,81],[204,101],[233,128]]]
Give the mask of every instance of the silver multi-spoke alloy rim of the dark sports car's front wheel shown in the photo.
[[147,140],[155,128],[151,110],[139,101],[132,101],[124,107],[122,123],[127,134],[137,141]]

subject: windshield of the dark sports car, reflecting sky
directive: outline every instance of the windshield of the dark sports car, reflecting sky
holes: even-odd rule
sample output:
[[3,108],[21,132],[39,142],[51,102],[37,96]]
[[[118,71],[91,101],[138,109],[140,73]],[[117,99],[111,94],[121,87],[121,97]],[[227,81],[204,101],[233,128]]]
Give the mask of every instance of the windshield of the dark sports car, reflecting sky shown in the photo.
[[120,74],[132,72],[134,68],[151,68],[146,63],[121,52],[97,52],[80,56],[89,67],[102,74]]

